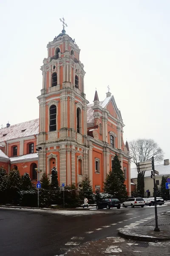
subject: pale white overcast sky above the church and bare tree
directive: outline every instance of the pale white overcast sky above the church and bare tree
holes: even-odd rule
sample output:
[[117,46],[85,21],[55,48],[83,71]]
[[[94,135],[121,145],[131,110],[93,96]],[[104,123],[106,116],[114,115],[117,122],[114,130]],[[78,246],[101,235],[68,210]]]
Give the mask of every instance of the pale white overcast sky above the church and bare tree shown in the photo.
[[170,158],[169,0],[1,0],[0,125],[39,117],[40,66],[62,30],[75,38],[85,93],[109,84],[125,123],[124,141],[152,138]]

